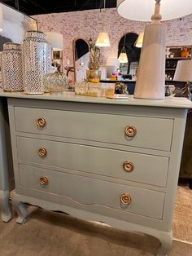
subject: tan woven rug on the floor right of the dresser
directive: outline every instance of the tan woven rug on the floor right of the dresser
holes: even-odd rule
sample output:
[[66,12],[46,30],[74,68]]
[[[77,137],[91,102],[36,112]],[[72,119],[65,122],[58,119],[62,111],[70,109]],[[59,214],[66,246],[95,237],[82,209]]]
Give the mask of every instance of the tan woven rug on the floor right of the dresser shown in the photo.
[[185,186],[177,187],[172,232],[175,239],[192,243],[192,190]]

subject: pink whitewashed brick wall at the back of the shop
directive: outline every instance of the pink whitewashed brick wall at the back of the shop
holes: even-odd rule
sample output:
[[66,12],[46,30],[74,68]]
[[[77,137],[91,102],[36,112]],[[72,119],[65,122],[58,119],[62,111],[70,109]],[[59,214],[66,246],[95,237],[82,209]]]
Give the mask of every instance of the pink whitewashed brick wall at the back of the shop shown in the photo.
[[[46,15],[34,15],[38,28],[42,32],[53,31],[63,33],[63,66],[70,60],[72,65],[72,40],[83,38],[94,41],[102,28],[103,15],[106,21],[107,32],[110,36],[111,46],[101,48],[101,60],[105,64],[107,56],[117,56],[117,48],[120,38],[124,33],[140,33],[144,23],[126,20],[116,12],[116,8],[107,9],[106,13],[100,10],[73,11],[52,13]],[[167,45],[181,46],[192,44],[192,14],[177,20],[165,21],[167,29]]]

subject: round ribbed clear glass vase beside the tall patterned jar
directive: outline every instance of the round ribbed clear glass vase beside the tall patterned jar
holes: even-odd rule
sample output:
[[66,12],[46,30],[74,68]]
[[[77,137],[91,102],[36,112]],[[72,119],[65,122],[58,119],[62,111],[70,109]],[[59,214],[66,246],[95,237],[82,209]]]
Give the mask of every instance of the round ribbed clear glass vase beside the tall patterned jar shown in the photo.
[[68,77],[62,72],[47,73],[43,79],[45,91],[50,93],[63,93],[68,90]]

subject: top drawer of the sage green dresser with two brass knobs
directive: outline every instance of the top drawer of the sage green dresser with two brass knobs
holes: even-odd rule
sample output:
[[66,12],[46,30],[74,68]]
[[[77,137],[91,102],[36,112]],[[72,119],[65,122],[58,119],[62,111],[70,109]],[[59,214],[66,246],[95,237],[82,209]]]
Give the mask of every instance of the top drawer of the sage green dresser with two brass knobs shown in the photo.
[[20,132],[140,148],[170,151],[172,127],[168,118],[15,107],[15,129]]

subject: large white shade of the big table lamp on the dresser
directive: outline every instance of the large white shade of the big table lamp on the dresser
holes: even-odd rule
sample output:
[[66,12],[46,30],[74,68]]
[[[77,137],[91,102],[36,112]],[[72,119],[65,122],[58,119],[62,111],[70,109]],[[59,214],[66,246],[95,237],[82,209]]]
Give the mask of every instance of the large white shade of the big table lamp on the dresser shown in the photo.
[[[191,0],[162,0],[162,20],[172,20],[192,12]],[[150,21],[155,0],[117,0],[117,12],[129,20]]]

